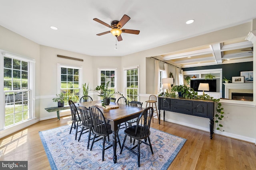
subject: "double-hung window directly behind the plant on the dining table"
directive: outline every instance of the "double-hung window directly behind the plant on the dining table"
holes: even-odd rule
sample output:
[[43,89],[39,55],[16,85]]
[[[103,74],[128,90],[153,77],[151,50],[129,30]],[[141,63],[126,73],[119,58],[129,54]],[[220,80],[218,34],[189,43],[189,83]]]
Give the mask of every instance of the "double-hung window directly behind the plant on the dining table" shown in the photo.
[[[99,73],[99,86],[106,86],[111,90],[110,94],[116,91],[116,68],[98,68]],[[100,92],[101,93],[101,92]],[[114,95],[112,96],[114,98]]]

